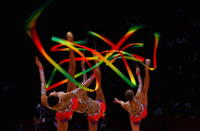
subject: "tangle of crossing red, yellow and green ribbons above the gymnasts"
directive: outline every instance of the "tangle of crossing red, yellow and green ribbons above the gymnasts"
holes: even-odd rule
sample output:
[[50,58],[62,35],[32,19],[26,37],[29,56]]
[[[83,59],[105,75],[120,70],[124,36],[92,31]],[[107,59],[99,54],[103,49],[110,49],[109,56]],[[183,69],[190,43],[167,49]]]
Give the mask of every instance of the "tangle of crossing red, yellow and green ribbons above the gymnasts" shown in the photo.
[[[159,33],[154,33],[154,49],[153,49],[153,67],[149,67],[147,65],[145,65],[144,60],[145,58],[143,56],[137,55],[137,54],[133,54],[133,53],[129,53],[126,50],[130,47],[143,47],[144,43],[131,43],[131,44],[125,44],[125,42],[138,30],[140,30],[141,28],[143,28],[143,26],[132,26],[127,33],[125,33],[125,35],[117,42],[114,43],[112,42],[110,39],[106,38],[103,35],[100,35],[98,33],[92,32],[92,31],[88,31],[88,34],[93,36],[93,37],[97,37],[99,39],[101,39],[103,41],[103,43],[109,45],[111,47],[111,49],[108,50],[104,50],[102,52],[98,52],[97,50],[87,47],[87,41],[68,41],[65,40],[63,38],[59,38],[56,36],[52,36],[51,40],[53,42],[56,42],[58,44],[54,45],[51,47],[50,51],[52,52],[59,52],[59,51],[69,51],[70,49],[75,51],[78,55],[80,55],[80,57],[75,57],[75,61],[86,61],[86,63],[88,64],[89,68],[79,72],[77,74],[75,74],[74,78],[69,75],[68,72],[66,72],[66,70],[64,70],[62,68],[62,64],[69,62],[69,59],[63,59],[60,62],[56,62],[54,59],[52,59],[52,57],[50,57],[50,55],[48,54],[48,52],[45,50],[44,45],[42,44],[37,30],[36,30],[36,24],[37,24],[37,19],[40,17],[40,15],[42,14],[42,12],[45,10],[45,8],[48,7],[48,5],[52,2],[53,0],[49,0],[47,1],[43,6],[41,6],[40,8],[38,8],[33,14],[32,16],[30,16],[25,24],[25,30],[26,33],[28,34],[28,36],[33,40],[33,43],[35,44],[35,46],[37,47],[38,51],[42,54],[42,56],[54,67],[54,69],[51,72],[51,76],[46,84],[46,90],[51,90],[53,88],[56,88],[58,86],[61,86],[65,83],[67,83],[68,81],[73,82],[76,86],[89,91],[89,92],[93,92],[96,91],[99,87],[99,80],[96,79],[96,86],[94,89],[90,89],[87,88],[85,86],[83,86],[80,82],[78,82],[76,80],[76,78],[82,76],[83,74],[89,72],[89,71],[93,71],[93,74],[96,77],[95,71],[94,69],[98,66],[100,66],[101,64],[106,64],[108,67],[110,67],[119,77],[121,77],[129,86],[135,88],[137,86],[135,77],[133,75],[133,72],[131,70],[131,67],[128,63],[129,61],[135,61],[135,62],[139,62],[141,63],[143,66],[147,67],[149,70],[155,70],[157,68],[157,48],[158,48],[158,43],[160,40],[160,35]],[[124,46],[123,46],[124,45]],[[88,51],[91,54],[93,54],[93,57],[87,57],[85,56],[81,51]],[[129,78],[124,75],[115,65],[114,62],[117,59],[121,59],[125,65],[126,71],[129,75]],[[92,65],[90,63],[90,61],[96,60],[98,61],[95,65]],[[55,74],[57,73],[57,71],[59,71],[61,74],[64,75],[65,79],[51,84]]]

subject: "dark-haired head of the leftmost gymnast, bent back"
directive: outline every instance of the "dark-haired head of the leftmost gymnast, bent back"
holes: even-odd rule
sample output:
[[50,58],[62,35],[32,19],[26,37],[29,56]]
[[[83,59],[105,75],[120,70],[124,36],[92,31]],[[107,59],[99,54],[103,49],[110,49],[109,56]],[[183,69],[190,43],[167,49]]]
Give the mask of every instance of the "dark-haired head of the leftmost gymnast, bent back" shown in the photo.
[[47,98],[47,103],[50,107],[55,107],[59,105],[58,92],[56,91],[51,92]]

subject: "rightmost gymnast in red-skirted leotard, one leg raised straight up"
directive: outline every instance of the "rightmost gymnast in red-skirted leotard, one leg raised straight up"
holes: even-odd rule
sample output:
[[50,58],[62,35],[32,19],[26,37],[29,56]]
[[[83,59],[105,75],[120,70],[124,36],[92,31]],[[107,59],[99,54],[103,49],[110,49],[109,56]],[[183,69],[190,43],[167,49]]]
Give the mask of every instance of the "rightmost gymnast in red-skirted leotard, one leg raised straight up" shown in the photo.
[[[150,65],[150,62],[150,59],[145,60],[147,66]],[[134,92],[128,89],[125,92],[127,102],[117,98],[114,99],[115,103],[120,104],[129,113],[132,131],[140,131],[140,122],[147,117],[148,89],[150,83],[149,69],[147,67],[145,67],[144,86],[139,67],[136,67],[136,75],[139,82],[136,95],[134,96]]]

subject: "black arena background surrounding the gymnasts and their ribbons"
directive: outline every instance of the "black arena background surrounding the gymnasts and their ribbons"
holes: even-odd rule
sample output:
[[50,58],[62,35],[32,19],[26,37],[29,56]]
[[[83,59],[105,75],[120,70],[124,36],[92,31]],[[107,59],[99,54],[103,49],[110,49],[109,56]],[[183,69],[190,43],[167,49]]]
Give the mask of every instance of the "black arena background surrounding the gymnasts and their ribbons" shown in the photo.
[[[1,4],[4,7],[1,8],[0,46],[3,130],[19,130],[19,125],[27,128],[24,130],[31,130],[35,105],[40,102],[40,80],[34,57],[37,55],[44,63],[47,78],[52,69],[24,30],[26,19],[44,2],[7,1]],[[51,36],[65,38],[65,33],[72,31],[75,40],[87,39],[91,43],[95,41],[97,50],[101,51],[109,49],[109,46],[89,36],[87,31],[97,32],[117,42],[132,25],[144,25],[143,29],[130,38],[133,41],[144,42],[144,47],[131,51],[151,59],[153,33],[159,32],[161,39],[158,46],[158,68],[151,72],[149,115],[142,124],[142,130],[198,130],[198,12],[195,3],[190,5],[145,1],[108,3],[55,0],[38,19],[37,29],[43,44],[49,44],[45,46],[46,50],[53,45]],[[91,43],[88,46],[93,47]],[[59,60],[60,55],[62,58],[67,57],[63,53],[49,53],[55,60]],[[126,73],[121,63],[120,60],[117,61],[116,66]],[[135,64],[130,63],[133,63],[131,67],[134,71]],[[102,86],[108,106],[107,129],[129,130],[128,114],[112,101],[114,97],[124,100],[124,91],[130,87],[110,68],[102,65],[101,69]],[[86,121],[86,118],[82,119]],[[175,121],[179,123],[174,123]],[[187,126],[184,123],[187,123]]]

